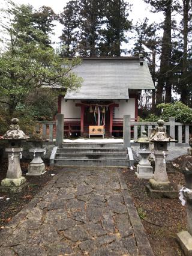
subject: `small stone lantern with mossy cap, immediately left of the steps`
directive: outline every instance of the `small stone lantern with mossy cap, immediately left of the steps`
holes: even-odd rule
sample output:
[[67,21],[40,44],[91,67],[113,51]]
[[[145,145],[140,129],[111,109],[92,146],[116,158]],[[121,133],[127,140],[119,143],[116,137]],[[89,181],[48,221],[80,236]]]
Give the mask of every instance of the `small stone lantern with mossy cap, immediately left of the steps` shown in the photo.
[[35,134],[28,142],[32,142],[32,148],[29,152],[34,154],[34,159],[28,166],[28,173],[26,175],[38,176],[43,175],[46,172],[45,164],[41,159],[41,154],[46,154],[46,149],[43,148],[43,142],[47,142],[47,139],[43,139],[40,130],[36,130]]

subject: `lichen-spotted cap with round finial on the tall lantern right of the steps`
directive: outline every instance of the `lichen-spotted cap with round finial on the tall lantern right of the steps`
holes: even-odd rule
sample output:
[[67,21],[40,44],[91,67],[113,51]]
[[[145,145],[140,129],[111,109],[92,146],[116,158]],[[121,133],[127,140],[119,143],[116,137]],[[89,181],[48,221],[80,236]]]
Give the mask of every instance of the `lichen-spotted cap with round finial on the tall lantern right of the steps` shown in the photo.
[[164,129],[164,121],[158,120],[157,121],[158,127],[154,130],[154,132],[151,133],[149,136],[148,141],[151,142],[176,142],[175,139],[173,139],[171,136],[169,136],[168,133],[166,133],[166,130]]

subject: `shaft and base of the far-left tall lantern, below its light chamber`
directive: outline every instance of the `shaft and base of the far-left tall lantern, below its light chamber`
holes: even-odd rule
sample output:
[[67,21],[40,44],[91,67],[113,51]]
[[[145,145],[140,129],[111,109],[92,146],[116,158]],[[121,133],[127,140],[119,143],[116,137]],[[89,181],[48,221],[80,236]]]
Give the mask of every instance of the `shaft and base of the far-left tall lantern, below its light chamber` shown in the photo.
[[8,153],[8,169],[6,178],[1,181],[0,190],[2,192],[7,192],[8,190],[17,192],[22,189],[20,186],[26,181],[20,168],[20,152],[22,151],[23,148],[5,148],[5,152]]

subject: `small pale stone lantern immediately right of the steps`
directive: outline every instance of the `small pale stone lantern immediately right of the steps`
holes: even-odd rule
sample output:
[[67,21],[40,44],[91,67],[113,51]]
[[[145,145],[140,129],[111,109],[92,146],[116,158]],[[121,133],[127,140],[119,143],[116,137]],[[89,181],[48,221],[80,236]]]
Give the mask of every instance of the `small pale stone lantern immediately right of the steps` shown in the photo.
[[149,144],[151,144],[152,142],[147,141],[145,130],[142,132],[142,137],[137,139],[137,141],[135,142],[139,143],[139,150],[137,151],[137,153],[139,153],[142,157],[137,165],[137,171],[135,172],[137,178],[152,178],[152,166],[148,159],[149,154],[151,154],[151,151],[149,150]]

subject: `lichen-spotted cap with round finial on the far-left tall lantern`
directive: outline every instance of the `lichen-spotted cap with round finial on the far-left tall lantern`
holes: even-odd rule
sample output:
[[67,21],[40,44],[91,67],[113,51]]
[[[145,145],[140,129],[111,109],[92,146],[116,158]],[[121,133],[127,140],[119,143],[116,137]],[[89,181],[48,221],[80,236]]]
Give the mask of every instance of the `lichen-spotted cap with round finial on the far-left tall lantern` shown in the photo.
[[11,119],[10,129],[4,134],[3,139],[7,139],[10,141],[29,139],[29,137],[25,135],[25,133],[22,130],[20,130],[18,123],[19,123],[19,119],[17,118]]

